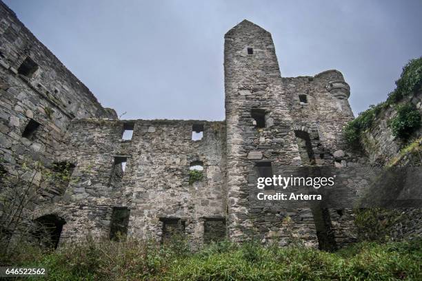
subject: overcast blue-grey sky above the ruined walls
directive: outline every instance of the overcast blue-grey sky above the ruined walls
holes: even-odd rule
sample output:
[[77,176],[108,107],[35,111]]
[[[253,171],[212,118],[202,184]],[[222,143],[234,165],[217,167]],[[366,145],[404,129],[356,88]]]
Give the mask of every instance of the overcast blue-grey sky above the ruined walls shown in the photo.
[[422,55],[421,0],[3,0],[122,118],[224,119],[223,36],[270,31],[282,76],[343,72],[354,114]]

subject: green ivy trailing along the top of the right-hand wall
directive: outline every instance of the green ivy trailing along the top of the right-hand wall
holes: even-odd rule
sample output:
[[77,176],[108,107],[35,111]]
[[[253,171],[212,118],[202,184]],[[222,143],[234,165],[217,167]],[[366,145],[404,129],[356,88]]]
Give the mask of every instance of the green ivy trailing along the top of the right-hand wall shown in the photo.
[[[398,113],[391,127],[395,136],[408,137],[414,129],[421,125],[421,115],[413,105],[398,105],[403,98],[422,91],[422,57],[412,59],[403,67],[400,79],[396,81],[396,89],[388,95],[385,102],[370,105],[365,112],[359,113],[343,129],[345,140],[352,147],[360,147],[361,135],[370,129],[377,116],[389,107],[396,107]],[[419,117],[418,117],[419,116]]]

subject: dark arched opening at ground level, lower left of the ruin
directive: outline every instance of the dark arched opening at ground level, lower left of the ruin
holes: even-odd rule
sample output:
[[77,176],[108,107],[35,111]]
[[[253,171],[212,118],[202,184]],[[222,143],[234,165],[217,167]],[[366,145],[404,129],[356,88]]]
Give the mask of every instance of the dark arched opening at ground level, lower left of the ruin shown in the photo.
[[34,237],[39,240],[43,247],[57,249],[61,231],[66,221],[53,214],[41,216],[34,221],[36,222],[35,229],[32,231]]

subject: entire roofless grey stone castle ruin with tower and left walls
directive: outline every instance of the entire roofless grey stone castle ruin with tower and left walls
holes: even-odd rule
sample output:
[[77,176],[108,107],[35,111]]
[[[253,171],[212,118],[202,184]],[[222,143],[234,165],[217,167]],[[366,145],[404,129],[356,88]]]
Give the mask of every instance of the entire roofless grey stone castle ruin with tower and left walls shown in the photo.
[[321,249],[356,239],[348,209],[249,198],[259,176],[283,167],[356,159],[342,136],[354,116],[341,72],[281,76],[270,32],[245,20],[225,34],[225,121],[119,120],[4,3],[0,37],[3,176],[35,161],[70,171],[23,210],[50,226],[54,247],[87,235],[194,246],[293,237]]

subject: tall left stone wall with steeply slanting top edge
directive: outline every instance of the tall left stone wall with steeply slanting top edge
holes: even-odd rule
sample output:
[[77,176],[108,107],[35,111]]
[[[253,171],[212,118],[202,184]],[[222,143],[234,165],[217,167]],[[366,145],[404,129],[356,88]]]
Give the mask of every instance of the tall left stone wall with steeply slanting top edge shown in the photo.
[[[23,186],[41,182],[35,163],[47,168],[57,163],[59,153],[68,149],[64,138],[74,118],[117,116],[114,110],[103,108],[1,1],[0,42],[0,169],[6,172],[1,174],[0,193],[4,195],[18,191],[17,178]],[[3,176],[13,180],[3,180]],[[25,202],[32,199],[25,203],[23,218],[36,219],[37,205],[53,208],[66,187],[67,183],[57,183],[28,195]],[[8,210],[1,208],[0,218],[3,211]]]

